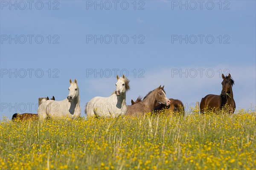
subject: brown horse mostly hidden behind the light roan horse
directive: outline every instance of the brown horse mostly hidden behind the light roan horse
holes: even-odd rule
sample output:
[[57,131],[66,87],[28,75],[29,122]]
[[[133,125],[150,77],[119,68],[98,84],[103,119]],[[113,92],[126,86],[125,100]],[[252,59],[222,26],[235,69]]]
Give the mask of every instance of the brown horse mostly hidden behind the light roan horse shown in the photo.
[[[154,108],[154,112],[157,113],[165,108],[167,114],[171,114],[171,113],[184,114],[185,113],[183,103],[180,100],[178,99],[169,99],[169,100],[171,102],[169,106],[166,106],[165,104],[157,102]],[[135,103],[138,103],[141,101],[142,101],[142,98],[141,96],[139,96],[135,102],[131,100],[131,105],[134,105]]]

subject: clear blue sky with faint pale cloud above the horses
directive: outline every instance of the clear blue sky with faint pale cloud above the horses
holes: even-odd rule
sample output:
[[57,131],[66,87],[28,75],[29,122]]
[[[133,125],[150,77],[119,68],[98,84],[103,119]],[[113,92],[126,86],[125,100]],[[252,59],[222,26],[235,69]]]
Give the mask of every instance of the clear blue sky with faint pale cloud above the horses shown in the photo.
[[65,99],[75,78],[84,110],[111,95],[115,73],[131,81],[128,105],[165,85],[188,110],[220,94],[230,73],[236,108],[255,108],[256,1],[180,2],[1,0],[0,117],[37,113],[38,97]]

